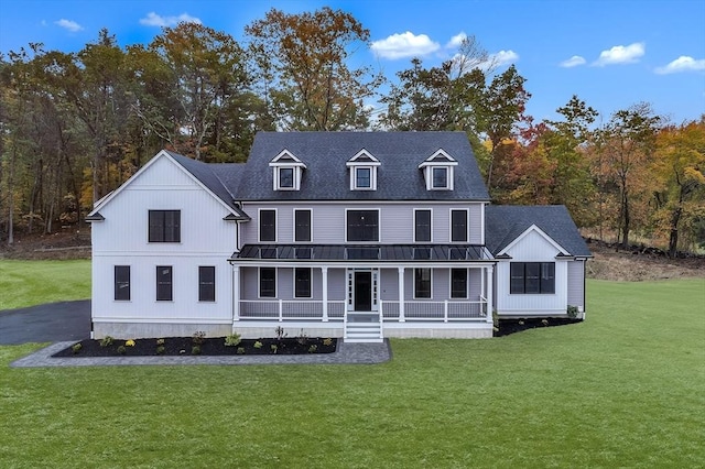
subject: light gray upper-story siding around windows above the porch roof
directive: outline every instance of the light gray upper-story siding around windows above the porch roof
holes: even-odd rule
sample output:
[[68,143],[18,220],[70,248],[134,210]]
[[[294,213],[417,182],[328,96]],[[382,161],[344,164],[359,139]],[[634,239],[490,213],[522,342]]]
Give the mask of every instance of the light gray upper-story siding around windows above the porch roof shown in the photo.
[[468,210],[468,243],[482,242],[482,205],[480,203],[434,204],[434,203],[366,203],[340,201],[330,204],[297,203],[245,203],[242,209],[252,218],[241,225],[242,244],[259,242],[260,209],[276,210],[276,241],[286,244],[294,242],[294,210],[312,210],[312,243],[340,244],[346,238],[346,209],[380,211],[380,243],[411,244],[414,242],[414,209],[432,210],[432,242],[451,242],[451,210]]

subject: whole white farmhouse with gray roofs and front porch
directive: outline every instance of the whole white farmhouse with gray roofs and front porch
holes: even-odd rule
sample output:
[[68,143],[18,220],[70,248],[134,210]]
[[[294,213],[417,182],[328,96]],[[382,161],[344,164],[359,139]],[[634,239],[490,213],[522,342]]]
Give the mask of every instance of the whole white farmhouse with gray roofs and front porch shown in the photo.
[[247,163],[162,151],[98,201],[100,338],[491,337],[585,310],[563,206],[491,206],[462,132],[262,132]]

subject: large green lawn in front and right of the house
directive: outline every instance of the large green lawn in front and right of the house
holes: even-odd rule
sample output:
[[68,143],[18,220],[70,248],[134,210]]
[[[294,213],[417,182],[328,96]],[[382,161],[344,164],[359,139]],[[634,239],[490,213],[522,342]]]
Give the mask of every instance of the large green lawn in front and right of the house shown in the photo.
[[379,366],[10,369],[0,467],[705,467],[705,280],[588,281],[579,325]]

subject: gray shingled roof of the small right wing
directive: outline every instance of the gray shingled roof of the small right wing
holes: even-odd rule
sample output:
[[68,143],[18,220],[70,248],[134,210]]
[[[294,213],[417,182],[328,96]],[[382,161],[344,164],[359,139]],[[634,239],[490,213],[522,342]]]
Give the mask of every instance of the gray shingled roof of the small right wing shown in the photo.
[[563,205],[491,205],[485,209],[485,240],[497,255],[529,227],[535,225],[571,255],[592,255],[571,214]]

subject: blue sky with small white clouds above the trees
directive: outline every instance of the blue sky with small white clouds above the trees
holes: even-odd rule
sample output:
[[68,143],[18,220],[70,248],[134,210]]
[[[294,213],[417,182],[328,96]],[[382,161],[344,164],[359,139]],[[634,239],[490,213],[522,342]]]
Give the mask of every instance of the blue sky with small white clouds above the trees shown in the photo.
[[475,35],[500,67],[514,64],[532,94],[528,113],[555,119],[577,95],[603,120],[640,101],[673,122],[705,113],[705,0],[161,1],[0,0],[0,52],[30,42],[78,51],[101,28],[121,45],[149,43],[161,26],[197,21],[243,43],[243,28],[276,8],[324,6],[351,13],[370,30],[372,48],[356,52],[390,79],[413,56],[438,65]]

